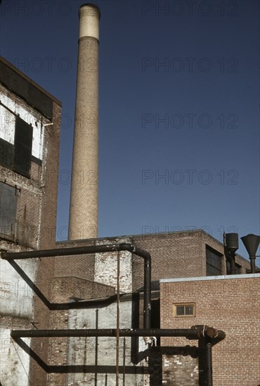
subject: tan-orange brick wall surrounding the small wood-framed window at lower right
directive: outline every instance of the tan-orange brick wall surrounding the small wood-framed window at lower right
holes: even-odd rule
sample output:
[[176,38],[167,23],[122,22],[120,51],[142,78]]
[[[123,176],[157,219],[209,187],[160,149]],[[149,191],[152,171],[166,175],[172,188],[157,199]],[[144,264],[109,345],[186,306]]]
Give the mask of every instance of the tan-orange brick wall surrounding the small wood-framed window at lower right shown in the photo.
[[[206,324],[225,331],[214,345],[213,384],[258,386],[260,278],[161,283],[161,328]],[[173,304],[195,302],[195,317],[173,317]],[[162,345],[190,345],[186,338],[164,338]]]

